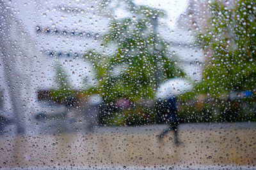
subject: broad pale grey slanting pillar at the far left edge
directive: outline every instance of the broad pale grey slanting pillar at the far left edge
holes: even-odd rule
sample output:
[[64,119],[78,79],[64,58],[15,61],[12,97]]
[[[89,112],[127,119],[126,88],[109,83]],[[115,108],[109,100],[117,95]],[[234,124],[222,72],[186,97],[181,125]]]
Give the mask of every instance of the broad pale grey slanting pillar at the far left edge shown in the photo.
[[33,131],[30,116],[36,108],[36,87],[32,79],[40,74],[34,67],[40,54],[36,53],[31,36],[11,9],[0,1],[0,59],[11,101],[12,122],[17,134],[22,134]]

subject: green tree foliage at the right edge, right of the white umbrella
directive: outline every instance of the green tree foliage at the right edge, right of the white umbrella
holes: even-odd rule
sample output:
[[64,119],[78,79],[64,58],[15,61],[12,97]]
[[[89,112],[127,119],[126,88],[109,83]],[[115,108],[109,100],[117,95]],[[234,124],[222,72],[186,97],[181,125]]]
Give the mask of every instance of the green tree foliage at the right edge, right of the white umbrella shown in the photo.
[[196,37],[209,56],[196,92],[218,97],[231,90],[255,90],[256,1],[240,0],[233,8],[214,1],[209,11],[209,24]]

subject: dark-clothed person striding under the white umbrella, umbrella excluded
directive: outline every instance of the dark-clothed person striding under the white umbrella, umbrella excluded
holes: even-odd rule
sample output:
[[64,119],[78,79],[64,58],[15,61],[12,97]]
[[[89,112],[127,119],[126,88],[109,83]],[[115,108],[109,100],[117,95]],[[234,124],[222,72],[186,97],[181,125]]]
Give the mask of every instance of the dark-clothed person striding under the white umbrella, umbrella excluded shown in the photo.
[[164,129],[161,134],[159,134],[158,139],[162,139],[164,135],[170,131],[174,131],[174,139],[175,144],[179,144],[178,139],[178,125],[179,120],[177,117],[177,104],[176,99],[173,96],[168,97],[168,99],[159,100],[157,102],[157,112],[163,117],[166,124],[168,124],[168,128]]

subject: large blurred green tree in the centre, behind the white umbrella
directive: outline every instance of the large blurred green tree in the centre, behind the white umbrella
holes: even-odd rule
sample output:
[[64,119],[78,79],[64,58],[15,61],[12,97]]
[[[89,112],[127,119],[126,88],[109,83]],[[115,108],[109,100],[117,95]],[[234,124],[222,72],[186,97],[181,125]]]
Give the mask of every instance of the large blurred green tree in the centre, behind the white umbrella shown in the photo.
[[[109,3],[104,1],[103,8],[109,8]],[[168,42],[157,32],[158,18],[165,12],[132,1],[123,3],[130,15],[111,18],[108,32],[102,36],[103,44],[115,49],[113,55],[84,55],[99,81],[90,90],[99,92],[106,102],[120,97],[131,101],[153,98],[161,81],[183,75],[168,51]]]

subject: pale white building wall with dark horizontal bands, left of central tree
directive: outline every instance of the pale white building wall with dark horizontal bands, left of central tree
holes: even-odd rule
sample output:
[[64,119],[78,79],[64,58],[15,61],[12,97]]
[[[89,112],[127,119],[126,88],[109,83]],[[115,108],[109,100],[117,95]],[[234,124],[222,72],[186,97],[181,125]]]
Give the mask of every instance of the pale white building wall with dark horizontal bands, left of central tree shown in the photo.
[[88,50],[102,51],[99,38],[108,20],[97,10],[95,1],[12,1],[18,18],[28,30],[37,50],[43,56],[38,63],[41,75],[38,89],[57,88],[54,80],[56,63],[68,74],[74,89],[84,89],[83,80],[93,81],[92,67],[83,60]]

